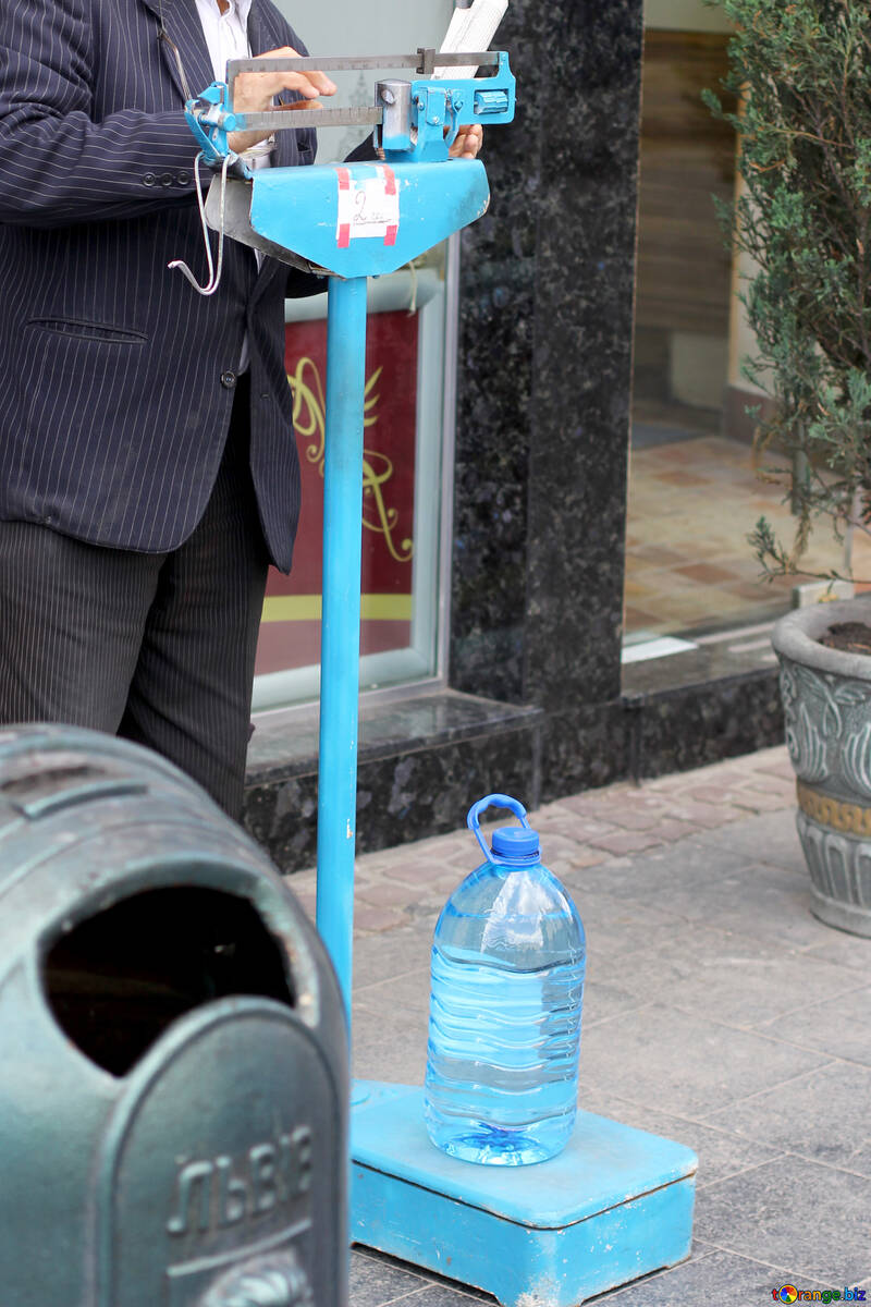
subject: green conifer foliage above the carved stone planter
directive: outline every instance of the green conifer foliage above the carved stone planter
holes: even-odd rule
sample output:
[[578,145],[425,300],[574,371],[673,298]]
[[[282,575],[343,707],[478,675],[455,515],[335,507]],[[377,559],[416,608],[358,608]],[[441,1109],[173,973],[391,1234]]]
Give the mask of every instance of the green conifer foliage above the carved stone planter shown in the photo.
[[768,575],[800,570],[817,518],[841,538],[858,508],[871,527],[871,4],[709,0],[735,25],[727,112],[746,191],[730,216],[759,273],[743,294],[759,342],[746,376],[776,400],[757,425],[764,474],[797,516],[785,548],[769,524],[751,537]]

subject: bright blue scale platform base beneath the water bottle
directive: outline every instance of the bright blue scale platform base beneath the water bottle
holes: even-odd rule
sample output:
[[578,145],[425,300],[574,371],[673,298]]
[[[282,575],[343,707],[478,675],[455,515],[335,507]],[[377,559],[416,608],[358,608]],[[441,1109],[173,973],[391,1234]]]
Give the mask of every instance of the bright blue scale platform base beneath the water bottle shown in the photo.
[[422,1089],[358,1081],[351,1239],[503,1307],[576,1307],[689,1256],[696,1165],[592,1112],[550,1162],[458,1162],[430,1142]]

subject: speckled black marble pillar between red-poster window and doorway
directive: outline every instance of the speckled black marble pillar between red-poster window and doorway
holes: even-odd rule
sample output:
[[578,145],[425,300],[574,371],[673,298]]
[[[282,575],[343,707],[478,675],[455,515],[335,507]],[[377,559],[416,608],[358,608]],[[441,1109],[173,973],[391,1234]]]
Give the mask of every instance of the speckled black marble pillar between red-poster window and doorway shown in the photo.
[[580,710],[620,691],[641,0],[512,0],[498,39],[518,115],[464,233],[451,684],[548,710],[580,776]]

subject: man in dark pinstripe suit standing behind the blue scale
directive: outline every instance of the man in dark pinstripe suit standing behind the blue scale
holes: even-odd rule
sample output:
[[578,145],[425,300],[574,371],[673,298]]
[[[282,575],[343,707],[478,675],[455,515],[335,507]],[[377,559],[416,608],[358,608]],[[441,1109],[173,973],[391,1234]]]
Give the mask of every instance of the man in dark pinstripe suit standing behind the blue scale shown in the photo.
[[[235,242],[212,298],[167,269],[204,267],[182,106],[239,39],[304,51],[270,0],[0,4],[0,721],[138,740],[235,817],[266,567],[290,569],[299,514],[283,299],[321,289]],[[313,150],[279,132],[273,162]]]

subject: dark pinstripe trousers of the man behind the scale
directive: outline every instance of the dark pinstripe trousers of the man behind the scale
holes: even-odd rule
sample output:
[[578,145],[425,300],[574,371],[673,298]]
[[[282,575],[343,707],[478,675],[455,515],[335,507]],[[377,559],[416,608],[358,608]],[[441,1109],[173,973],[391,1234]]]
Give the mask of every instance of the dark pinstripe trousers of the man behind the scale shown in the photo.
[[171,553],[0,521],[0,723],[60,721],[148,745],[242,814],[269,558],[239,376],[208,507]]

